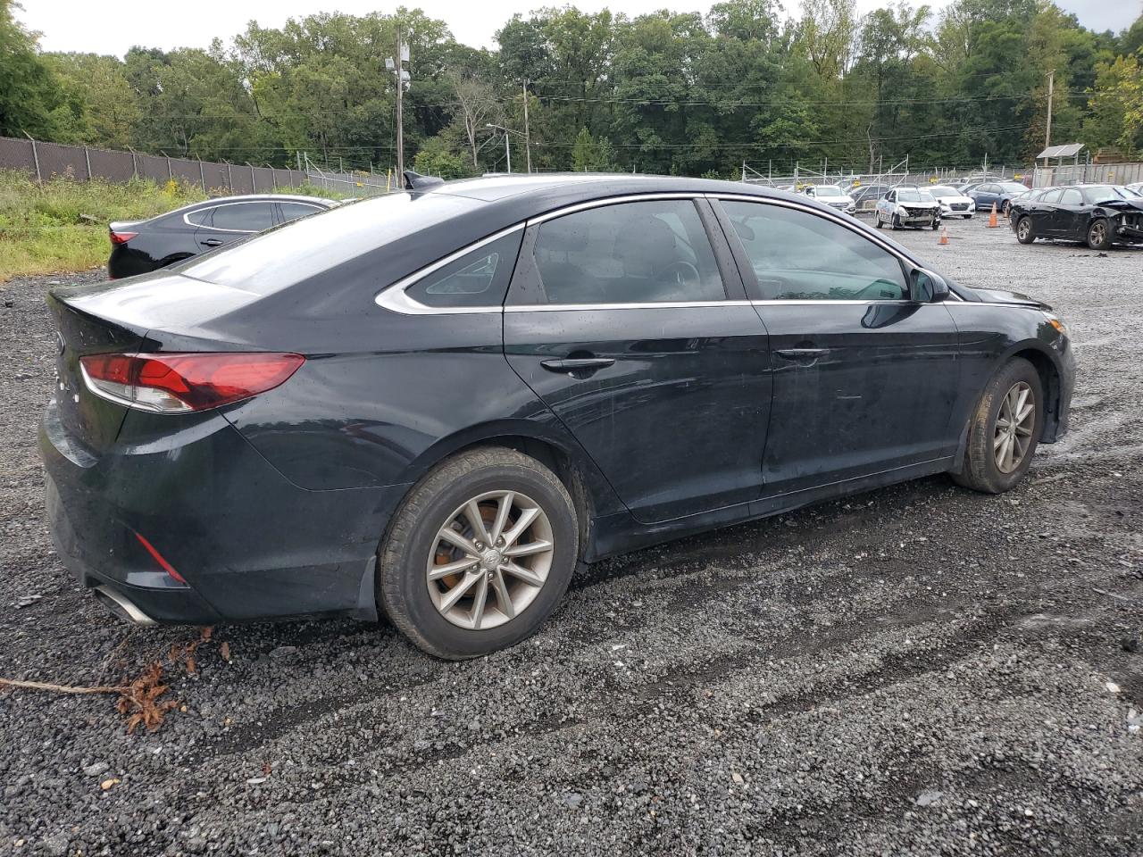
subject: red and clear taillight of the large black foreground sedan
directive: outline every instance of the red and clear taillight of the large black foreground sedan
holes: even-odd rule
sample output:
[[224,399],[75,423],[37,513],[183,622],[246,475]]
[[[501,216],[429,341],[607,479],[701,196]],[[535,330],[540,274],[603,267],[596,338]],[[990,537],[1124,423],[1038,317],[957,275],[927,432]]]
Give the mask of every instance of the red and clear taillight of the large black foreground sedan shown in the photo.
[[305,362],[301,354],[89,354],[88,390],[119,405],[161,414],[208,410],[273,390]]

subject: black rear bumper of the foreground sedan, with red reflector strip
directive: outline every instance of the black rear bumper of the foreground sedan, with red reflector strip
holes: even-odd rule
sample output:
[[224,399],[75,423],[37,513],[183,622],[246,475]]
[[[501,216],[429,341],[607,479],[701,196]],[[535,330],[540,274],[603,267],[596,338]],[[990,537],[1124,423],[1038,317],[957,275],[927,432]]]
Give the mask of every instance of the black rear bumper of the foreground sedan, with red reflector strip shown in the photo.
[[406,486],[306,490],[219,414],[182,419],[173,431],[169,416],[133,411],[120,440],[91,456],[48,406],[39,434],[48,523],[71,574],[160,623],[375,618],[373,588],[362,583]]

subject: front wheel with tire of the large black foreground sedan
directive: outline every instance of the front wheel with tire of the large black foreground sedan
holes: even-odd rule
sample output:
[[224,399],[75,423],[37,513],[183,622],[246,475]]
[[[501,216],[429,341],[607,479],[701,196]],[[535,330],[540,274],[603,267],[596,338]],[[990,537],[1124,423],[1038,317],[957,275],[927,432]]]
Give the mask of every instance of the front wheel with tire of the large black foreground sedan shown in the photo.
[[[1017,423],[1016,433],[1005,432],[1004,425],[1010,424],[1010,421],[1001,422],[1001,414],[1010,413],[1025,392],[1022,407],[1031,405],[1031,410]],[[960,471],[952,474],[953,480],[985,494],[1010,490],[1028,473],[1044,427],[1044,390],[1036,367],[1023,358],[1013,358],[1005,363],[984,389],[970,419],[965,462]],[[1028,433],[1018,433],[1021,430]],[[998,441],[1000,434],[1009,434],[1009,441]],[[1026,442],[1023,448],[1020,438]],[[1012,449],[1010,458],[1005,454],[1007,449]],[[1004,466],[998,456],[1004,459]]]

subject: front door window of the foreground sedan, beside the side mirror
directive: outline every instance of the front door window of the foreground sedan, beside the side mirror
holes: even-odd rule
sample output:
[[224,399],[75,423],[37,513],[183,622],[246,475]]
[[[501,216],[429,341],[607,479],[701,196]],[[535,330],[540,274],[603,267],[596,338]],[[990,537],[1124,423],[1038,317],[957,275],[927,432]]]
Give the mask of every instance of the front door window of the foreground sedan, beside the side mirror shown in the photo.
[[767,301],[906,301],[901,262],[825,217],[782,206],[725,201]]

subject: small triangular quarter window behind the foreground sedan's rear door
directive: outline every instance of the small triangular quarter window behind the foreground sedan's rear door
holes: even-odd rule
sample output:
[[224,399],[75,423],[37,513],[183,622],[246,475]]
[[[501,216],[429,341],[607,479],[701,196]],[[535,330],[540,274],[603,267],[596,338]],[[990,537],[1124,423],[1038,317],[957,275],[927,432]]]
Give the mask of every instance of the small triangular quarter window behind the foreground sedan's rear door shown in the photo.
[[471,250],[414,283],[405,294],[425,306],[499,306],[522,238],[523,231],[517,230]]

